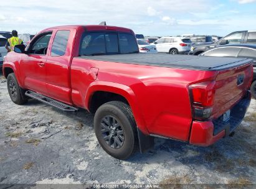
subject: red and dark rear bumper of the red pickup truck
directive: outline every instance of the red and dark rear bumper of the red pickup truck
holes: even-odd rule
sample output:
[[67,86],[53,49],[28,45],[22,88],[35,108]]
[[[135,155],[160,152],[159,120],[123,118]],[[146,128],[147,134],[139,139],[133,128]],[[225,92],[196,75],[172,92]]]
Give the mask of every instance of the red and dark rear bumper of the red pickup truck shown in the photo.
[[214,144],[219,139],[229,136],[244,119],[245,113],[250,105],[250,92],[235,104],[230,110],[230,120],[222,121],[222,116],[216,120],[193,121],[191,127],[190,144],[207,146]]

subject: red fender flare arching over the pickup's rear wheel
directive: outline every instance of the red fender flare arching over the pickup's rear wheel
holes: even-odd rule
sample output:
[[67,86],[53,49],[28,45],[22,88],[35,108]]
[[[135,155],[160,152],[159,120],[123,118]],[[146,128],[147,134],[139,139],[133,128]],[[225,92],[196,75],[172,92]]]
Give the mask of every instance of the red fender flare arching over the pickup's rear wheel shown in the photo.
[[133,112],[137,127],[139,127],[144,134],[149,134],[148,129],[146,129],[146,124],[143,116],[141,114],[141,109],[139,107],[140,105],[136,99],[135,93],[133,92],[133,90],[131,90],[129,86],[108,81],[94,81],[88,87],[85,97],[85,107],[87,107],[87,109],[89,107],[92,95],[97,91],[106,91],[110,93],[120,94],[121,96],[123,96],[130,104],[131,111]]

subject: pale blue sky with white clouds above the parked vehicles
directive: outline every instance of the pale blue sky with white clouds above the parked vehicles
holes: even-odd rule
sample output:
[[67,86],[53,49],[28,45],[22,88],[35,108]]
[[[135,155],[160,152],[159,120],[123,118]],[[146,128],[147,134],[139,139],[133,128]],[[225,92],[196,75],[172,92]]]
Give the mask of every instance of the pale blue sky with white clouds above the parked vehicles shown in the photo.
[[256,30],[256,0],[2,0],[0,10],[0,30],[20,34],[102,21],[159,36]]

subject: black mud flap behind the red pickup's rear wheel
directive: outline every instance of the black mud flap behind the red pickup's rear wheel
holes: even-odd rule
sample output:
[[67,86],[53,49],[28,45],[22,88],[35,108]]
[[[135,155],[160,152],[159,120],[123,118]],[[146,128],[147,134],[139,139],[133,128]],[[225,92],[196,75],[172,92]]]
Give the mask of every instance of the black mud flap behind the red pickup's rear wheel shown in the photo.
[[138,127],[137,127],[137,131],[138,131],[138,138],[139,138],[141,154],[145,153],[149,149],[153,149],[154,137],[143,134],[143,132],[141,132]]

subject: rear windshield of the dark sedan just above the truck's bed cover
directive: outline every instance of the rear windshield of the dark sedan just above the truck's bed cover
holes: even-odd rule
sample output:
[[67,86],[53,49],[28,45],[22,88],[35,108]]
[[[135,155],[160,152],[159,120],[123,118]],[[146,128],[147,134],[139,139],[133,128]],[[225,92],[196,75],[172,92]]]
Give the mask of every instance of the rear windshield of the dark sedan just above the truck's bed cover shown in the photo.
[[227,48],[215,48],[209,52],[204,53],[207,57],[237,57],[240,48],[227,47]]

